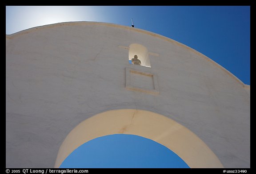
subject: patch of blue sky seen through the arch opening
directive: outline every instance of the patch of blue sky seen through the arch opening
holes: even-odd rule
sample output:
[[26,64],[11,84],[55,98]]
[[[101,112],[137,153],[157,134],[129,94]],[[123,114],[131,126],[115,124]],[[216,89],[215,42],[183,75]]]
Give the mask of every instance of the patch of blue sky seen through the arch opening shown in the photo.
[[62,162],[60,168],[190,167],[173,151],[151,139],[115,134],[84,143]]

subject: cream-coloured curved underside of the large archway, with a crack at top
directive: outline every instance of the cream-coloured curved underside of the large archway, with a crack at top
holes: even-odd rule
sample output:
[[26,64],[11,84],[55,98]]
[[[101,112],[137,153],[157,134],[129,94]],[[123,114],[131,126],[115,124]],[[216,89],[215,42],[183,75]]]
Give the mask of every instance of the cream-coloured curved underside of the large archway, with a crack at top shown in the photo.
[[137,109],[110,110],[81,122],[60,146],[55,167],[60,167],[82,144],[113,134],[152,139],[176,153],[191,168],[223,168],[211,149],[192,131],[166,116]]

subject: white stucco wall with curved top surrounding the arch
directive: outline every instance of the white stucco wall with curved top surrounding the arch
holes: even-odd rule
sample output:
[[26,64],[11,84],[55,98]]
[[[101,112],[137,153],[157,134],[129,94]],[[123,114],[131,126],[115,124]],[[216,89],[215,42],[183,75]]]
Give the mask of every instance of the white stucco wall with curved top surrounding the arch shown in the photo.
[[[148,49],[151,68],[128,63],[132,43]],[[154,74],[159,93],[126,88],[127,68]],[[224,167],[250,167],[250,87],[203,54],[109,23],[59,23],[6,36],[7,168],[53,167],[80,122],[136,108],[191,130]]]

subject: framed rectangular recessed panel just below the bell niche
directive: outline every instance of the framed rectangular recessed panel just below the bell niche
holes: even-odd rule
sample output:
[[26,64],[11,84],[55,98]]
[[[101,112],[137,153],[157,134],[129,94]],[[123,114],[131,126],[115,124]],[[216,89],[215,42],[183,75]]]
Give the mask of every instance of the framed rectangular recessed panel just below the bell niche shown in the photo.
[[125,80],[125,87],[129,90],[151,94],[159,93],[156,75],[153,73],[126,68]]

